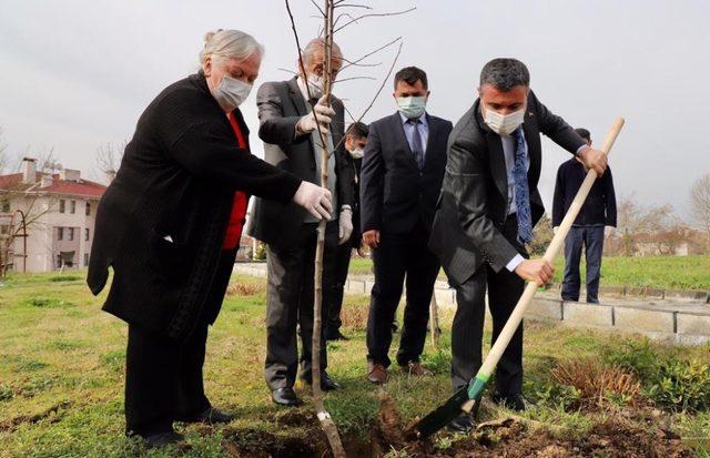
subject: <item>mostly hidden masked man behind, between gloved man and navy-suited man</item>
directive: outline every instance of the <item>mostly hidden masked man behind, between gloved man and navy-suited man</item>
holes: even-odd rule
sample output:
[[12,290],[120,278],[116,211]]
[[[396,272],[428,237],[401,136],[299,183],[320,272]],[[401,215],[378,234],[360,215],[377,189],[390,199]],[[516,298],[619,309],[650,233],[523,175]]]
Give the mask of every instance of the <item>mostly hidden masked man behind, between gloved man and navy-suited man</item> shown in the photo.
[[359,171],[363,165],[363,154],[367,144],[367,133],[369,129],[362,122],[354,122],[345,132],[344,147],[347,152],[346,163],[351,169],[351,179],[353,185],[353,234],[351,240],[338,245],[335,255],[335,281],[331,285],[332,294],[327,297],[331,301],[327,304],[328,320],[325,325],[326,340],[347,340],[348,338],[341,333],[343,320],[341,319],[341,311],[343,308],[343,292],[345,281],[347,279],[347,271],[351,265],[353,248],[359,248],[363,235],[359,231]]

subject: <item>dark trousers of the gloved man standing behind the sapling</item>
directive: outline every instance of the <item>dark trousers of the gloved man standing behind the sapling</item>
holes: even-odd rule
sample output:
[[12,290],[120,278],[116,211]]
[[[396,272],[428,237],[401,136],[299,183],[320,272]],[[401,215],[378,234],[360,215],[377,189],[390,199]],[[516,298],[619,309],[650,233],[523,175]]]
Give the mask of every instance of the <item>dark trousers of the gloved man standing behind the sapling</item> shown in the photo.
[[[301,376],[311,378],[313,337],[313,296],[317,224],[301,226],[300,243],[295,246],[268,246],[268,286],[266,293],[266,363],[264,377],[274,390],[292,387],[296,381],[298,362]],[[323,307],[321,319],[327,319],[328,292],[333,291],[333,269],[337,247],[337,221],[329,222],[325,232],[323,256]],[[296,344],[296,325],[301,326],[301,358]],[[327,367],[327,354],[321,328],[321,368]]]

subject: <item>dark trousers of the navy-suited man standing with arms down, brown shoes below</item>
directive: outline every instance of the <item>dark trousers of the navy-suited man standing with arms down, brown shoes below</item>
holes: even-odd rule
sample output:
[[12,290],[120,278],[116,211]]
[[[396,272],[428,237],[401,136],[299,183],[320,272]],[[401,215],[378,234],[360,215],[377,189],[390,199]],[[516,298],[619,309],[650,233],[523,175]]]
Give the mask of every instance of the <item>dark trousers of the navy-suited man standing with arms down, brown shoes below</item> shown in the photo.
[[405,282],[407,303],[397,364],[419,362],[426,340],[429,303],[439,272],[438,258],[429,252],[429,233],[417,226],[409,234],[381,233],[379,246],[373,251],[375,285],[367,318],[367,359],[389,366],[392,323]]

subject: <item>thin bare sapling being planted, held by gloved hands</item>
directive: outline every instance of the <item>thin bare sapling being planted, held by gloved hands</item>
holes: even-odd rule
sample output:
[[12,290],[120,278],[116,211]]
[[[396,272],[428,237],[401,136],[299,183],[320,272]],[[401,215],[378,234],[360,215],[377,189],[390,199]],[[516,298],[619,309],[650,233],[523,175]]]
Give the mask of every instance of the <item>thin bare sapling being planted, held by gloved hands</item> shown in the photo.
[[[293,29],[293,33],[294,33],[294,39],[296,42],[296,48],[297,48],[297,52],[298,52],[298,64],[301,69],[305,70],[305,65],[303,63],[303,49],[301,48],[301,41],[298,39],[298,33],[296,30],[296,24],[293,18],[293,13],[291,11],[291,6],[288,3],[288,0],[284,0],[285,1],[285,6],[286,6],[286,11],[288,13],[288,18],[291,20],[291,27]],[[345,0],[324,0],[323,1],[323,7],[320,7],[318,3],[316,3],[315,0],[311,1],[315,8],[317,9],[318,13],[321,14],[321,18],[323,19],[323,26],[321,29],[321,33],[318,33],[321,37],[323,37],[323,41],[324,41],[324,48],[325,48],[325,60],[324,60],[324,71],[323,71],[323,95],[324,95],[324,100],[326,101],[326,103],[329,103],[329,98],[331,98],[331,90],[333,88],[333,84],[336,82],[335,81],[335,74],[333,72],[333,42],[334,39],[333,37],[335,35],[335,33],[337,33],[338,31],[343,30],[344,28],[353,24],[353,23],[358,23],[358,21],[364,20],[365,18],[372,18],[372,17],[385,17],[385,16],[394,16],[394,14],[402,14],[405,12],[410,11],[406,10],[406,11],[399,11],[399,12],[394,12],[394,13],[366,13],[366,14],[359,14],[356,16],[354,13],[354,11],[362,11],[362,9],[365,10],[372,10],[371,7],[368,6],[364,6],[364,4],[356,4],[356,3],[346,3]],[[414,9],[414,8],[413,8]],[[341,23],[341,21],[343,21],[344,23]],[[382,89],[385,86],[387,79],[389,78],[389,74],[392,74],[392,70],[394,69],[394,65],[396,63],[396,60],[399,55],[399,52],[402,51],[402,39],[397,38],[396,40],[393,40],[390,43],[381,47],[379,49],[368,52],[365,55],[363,55],[359,59],[355,59],[353,61],[348,61],[346,59],[343,59],[346,62],[346,65],[344,65],[341,69],[341,72],[343,70],[345,70],[348,67],[359,67],[359,68],[365,68],[365,67],[373,67],[373,64],[368,64],[366,62],[364,62],[367,58],[372,57],[373,54],[382,51],[383,49],[386,49],[389,44],[394,44],[394,43],[399,43],[399,48],[397,50],[397,54],[394,58],[394,61],[392,63],[392,67],[389,68],[389,71],[387,72],[387,75],[384,78],[382,85],[379,86],[379,89],[376,91],[375,96],[373,98],[372,102],[369,103],[369,105],[365,109],[365,111],[363,112],[363,114],[356,120],[351,113],[349,111],[347,112],[351,118],[353,119],[353,121],[361,121],[363,119],[363,116],[367,113],[367,111],[369,111],[369,109],[373,106],[373,104],[375,103],[375,100],[377,99],[377,96],[379,95],[379,93],[382,92]],[[376,64],[374,64],[374,67],[376,67]],[[354,80],[354,79],[361,79],[361,78],[365,78],[365,79],[372,79],[369,77],[351,77],[347,79],[341,79],[338,80],[339,82],[342,81],[346,81],[346,80]],[[307,103],[312,103],[311,101],[313,100],[313,96],[311,95],[311,86],[310,84],[305,84],[306,86],[306,91],[308,93],[308,100],[306,101]],[[317,114],[315,106],[312,104],[311,106],[312,112],[314,113],[314,115],[316,116],[316,123],[318,126],[318,135],[320,135],[320,145],[316,145],[316,147],[320,147],[321,150],[321,185],[323,187],[327,187],[327,181],[328,181],[328,157],[331,156],[331,154],[335,154],[335,151],[337,151],[338,147],[341,147],[342,144],[337,144],[334,146],[334,151],[328,151],[328,143],[326,141],[327,135],[329,134],[329,132],[327,131],[327,128],[323,126],[320,122],[317,122]],[[343,138],[344,140],[345,138]],[[342,140],[342,141],[343,141]],[[342,143],[341,141],[341,143]],[[331,418],[331,415],[327,413],[327,410],[325,409],[325,405],[323,401],[323,391],[321,389],[321,335],[322,335],[322,311],[323,311],[323,254],[325,251],[325,226],[326,226],[326,220],[321,221],[321,223],[318,224],[318,238],[317,238],[317,245],[316,245],[316,255],[315,255],[315,291],[314,291],[314,304],[313,304],[313,342],[312,342],[312,384],[311,386],[313,387],[313,403],[315,405],[315,409],[316,409],[316,415],[317,418],[321,423],[321,427],[323,428],[327,439],[328,439],[328,444],[331,445],[331,450],[333,451],[333,456],[336,458],[341,458],[341,457],[345,457],[345,449],[343,447],[343,442],[341,440],[341,437],[337,432],[337,427],[335,426],[335,423],[333,421],[333,419]]]

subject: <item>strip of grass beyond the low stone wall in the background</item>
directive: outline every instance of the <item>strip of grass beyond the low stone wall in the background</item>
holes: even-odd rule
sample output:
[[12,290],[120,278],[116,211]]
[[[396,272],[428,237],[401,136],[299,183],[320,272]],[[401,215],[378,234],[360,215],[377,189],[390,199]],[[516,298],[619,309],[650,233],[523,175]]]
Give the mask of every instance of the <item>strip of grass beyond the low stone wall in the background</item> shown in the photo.
[[[559,283],[565,258],[555,259],[555,282]],[[585,275],[582,259],[581,272]],[[351,273],[372,274],[372,261],[353,258]],[[442,276],[444,274],[442,273]],[[710,256],[605,257],[601,284],[606,286],[656,287],[662,289],[710,291]]]

